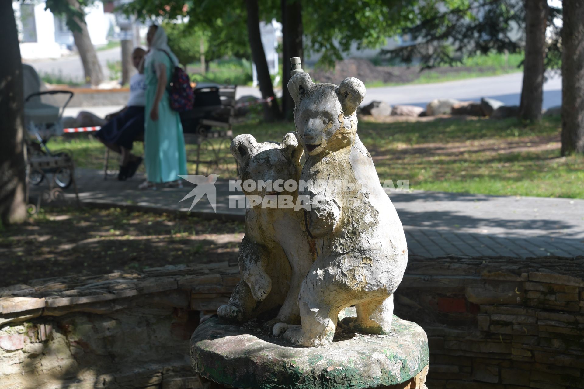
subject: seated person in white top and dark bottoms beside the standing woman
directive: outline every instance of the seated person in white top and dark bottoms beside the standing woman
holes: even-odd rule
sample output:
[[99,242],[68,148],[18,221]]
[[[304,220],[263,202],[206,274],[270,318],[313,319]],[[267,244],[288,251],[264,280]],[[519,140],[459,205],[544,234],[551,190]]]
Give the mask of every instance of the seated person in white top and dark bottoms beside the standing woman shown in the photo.
[[144,134],[144,105],[146,84],[144,71],[140,69],[145,51],[135,48],[132,52],[132,62],[138,73],[130,79],[130,99],[121,111],[107,115],[107,123],[95,133],[95,136],[107,148],[121,154],[120,173],[118,180],[134,176],[142,158],[131,153],[132,145],[138,135]]

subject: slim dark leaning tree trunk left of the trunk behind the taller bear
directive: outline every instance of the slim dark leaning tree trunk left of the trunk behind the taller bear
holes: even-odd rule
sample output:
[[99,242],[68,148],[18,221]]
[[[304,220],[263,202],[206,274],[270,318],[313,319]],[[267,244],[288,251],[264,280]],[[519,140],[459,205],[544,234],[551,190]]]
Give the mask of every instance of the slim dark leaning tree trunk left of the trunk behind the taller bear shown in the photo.
[[259,32],[258,0],[246,0],[245,4],[248,10],[249,46],[252,50],[253,62],[256,64],[256,70],[258,71],[259,90],[262,92],[264,99],[267,99],[267,97],[274,98],[272,104],[265,104],[265,118],[266,121],[278,120],[281,118],[280,107],[274,94],[272,78],[267,68],[266,52],[263,50],[262,38]]

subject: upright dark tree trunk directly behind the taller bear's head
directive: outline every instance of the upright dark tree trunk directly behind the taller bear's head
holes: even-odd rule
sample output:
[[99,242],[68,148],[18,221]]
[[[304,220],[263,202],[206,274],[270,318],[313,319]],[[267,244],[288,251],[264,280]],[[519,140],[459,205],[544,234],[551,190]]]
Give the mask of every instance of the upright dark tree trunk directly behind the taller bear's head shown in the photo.
[[303,59],[302,47],[302,9],[300,0],[281,0],[282,9],[282,45],[283,45],[283,76],[282,76],[282,115],[285,119],[292,119],[294,100],[288,92],[290,80],[290,58]]

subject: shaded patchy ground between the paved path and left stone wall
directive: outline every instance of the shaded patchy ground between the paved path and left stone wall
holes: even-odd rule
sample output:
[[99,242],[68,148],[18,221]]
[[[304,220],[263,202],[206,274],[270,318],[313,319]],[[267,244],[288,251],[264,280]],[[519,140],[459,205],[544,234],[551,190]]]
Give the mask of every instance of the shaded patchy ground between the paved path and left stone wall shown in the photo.
[[[58,233],[55,233],[57,232]],[[44,208],[0,234],[0,286],[33,278],[237,263],[244,225],[120,209]]]

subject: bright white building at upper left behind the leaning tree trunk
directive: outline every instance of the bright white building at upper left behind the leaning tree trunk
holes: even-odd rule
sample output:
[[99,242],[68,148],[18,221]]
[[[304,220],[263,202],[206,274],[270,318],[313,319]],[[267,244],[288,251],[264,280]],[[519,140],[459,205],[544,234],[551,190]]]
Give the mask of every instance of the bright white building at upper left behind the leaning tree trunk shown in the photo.
[[[75,48],[73,33],[65,19],[45,10],[45,3],[45,0],[12,2],[23,59],[59,58]],[[93,45],[107,44],[111,22],[101,1],[85,8],[85,22]]]

